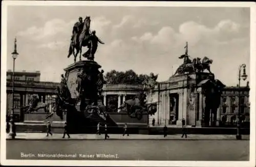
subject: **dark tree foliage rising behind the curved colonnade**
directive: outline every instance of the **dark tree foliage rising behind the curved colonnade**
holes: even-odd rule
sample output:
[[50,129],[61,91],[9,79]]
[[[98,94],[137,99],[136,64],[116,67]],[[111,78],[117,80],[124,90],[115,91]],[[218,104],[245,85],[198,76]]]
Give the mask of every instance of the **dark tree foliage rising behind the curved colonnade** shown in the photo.
[[112,70],[105,74],[106,84],[143,84],[145,79],[150,77],[146,74],[136,74],[133,70],[116,71]]

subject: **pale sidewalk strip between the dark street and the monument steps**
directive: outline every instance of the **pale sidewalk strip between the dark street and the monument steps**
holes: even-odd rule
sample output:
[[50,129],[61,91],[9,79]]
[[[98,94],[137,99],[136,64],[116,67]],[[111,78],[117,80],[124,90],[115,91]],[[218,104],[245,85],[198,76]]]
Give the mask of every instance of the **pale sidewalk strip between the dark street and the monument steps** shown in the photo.
[[[223,134],[187,134],[187,138],[181,138],[180,134],[167,135],[147,135],[147,134],[130,134],[130,136],[122,136],[122,134],[109,134],[108,140],[236,140],[236,135]],[[16,140],[104,140],[104,134],[70,134],[71,138],[62,138],[62,134],[54,133],[52,136],[46,136],[46,133],[17,133]],[[250,135],[242,135],[243,140],[249,140]],[[12,140],[8,138],[7,140]]]

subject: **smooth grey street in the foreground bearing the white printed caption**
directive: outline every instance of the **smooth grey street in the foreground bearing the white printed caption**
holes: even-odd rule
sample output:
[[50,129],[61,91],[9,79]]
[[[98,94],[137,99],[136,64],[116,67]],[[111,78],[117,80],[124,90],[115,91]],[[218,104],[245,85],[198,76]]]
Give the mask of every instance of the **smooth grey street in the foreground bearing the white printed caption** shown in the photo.
[[[74,157],[46,157],[57,154]],[[7,159],[248,160],[249,141],[8,140]]]

